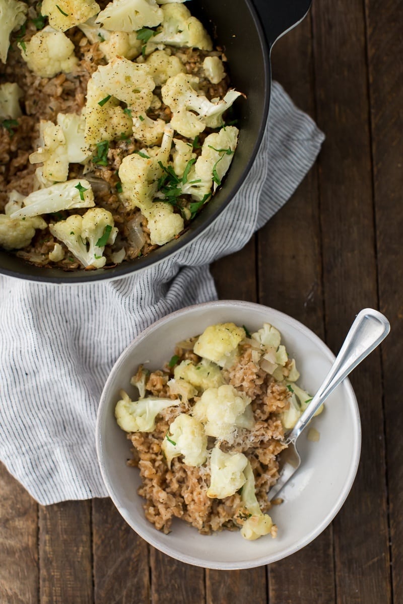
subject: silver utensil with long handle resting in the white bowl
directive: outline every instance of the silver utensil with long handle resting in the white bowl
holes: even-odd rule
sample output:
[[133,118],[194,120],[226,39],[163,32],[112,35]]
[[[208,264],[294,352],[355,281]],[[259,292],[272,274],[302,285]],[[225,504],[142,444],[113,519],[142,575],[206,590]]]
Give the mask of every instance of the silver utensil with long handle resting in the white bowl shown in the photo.
[[389,321],[378,310],[364,308],[358,313],[322,385],[294,428],[286,435],[285,443],[288,447],[280,454],[280,477],[268,492],[269,501],[279,494],[301,464],[301,458],[297,450],[298,436],[306,428],[320,406],[323,405],[329,394],[343,382],[350,371],[382,342],[389,331]]

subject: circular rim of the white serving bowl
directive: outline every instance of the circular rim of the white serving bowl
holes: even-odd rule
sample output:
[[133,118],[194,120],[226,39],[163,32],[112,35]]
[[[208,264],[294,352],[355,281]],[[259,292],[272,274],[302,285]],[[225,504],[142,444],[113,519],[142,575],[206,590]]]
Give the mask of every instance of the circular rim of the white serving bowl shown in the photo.
[[[289,547],[285,548],[285,550],[283,550],[282,552],[269,554],[269,555],[266,554],[265,556],[260,556],[258,558],[252,559],[252,560],[248,559],[248,560],[238,561],[238,562],[216,562],[216,561],[210,562],[210,561],[202,559],[201,557],[189,556],[188,554],[184,554],[181,551],[178,551],[176,549],[172,550],[169,547],[166,547],[164,544],[161,544],[160,541],[158,540],[157,531],[156,531],[155,538],[153,536],[146,535],[143,532],[143,530],[141,529],[141,527],[138,527],[137,525],[135,525],[134,522],[132,522],[132,520],[129,518],[129,514],[125,513],[126,510],[120,505],[118,493],[115,491],[114,486],[111,483],[111,481],[109,481],[108,472],[106,471],[106,462],[105,462],[104,456],[103,456],[103,443],[102,443],[102,439],[101,439],[101,424],[103,422],[103,418],[106,416],[106,409],[107,409],[107,405],[108,405],[108,399],[106,398],[106,393],[109,390],[109,385],[114,380],[114,374],[118,371],[118,369],[121,367],[121,365],[124,364],[124,362],[126,361],[126,358],[131,355],[132,350],[141,341],[144,341],[144,339],[146,339],[150,333],[154,332],[155,330],[158,330],[160,328],[160,326],[162,326],[166,323],[169,323],[170,320],[172,320],[173,318],[177,318],[178,316],[181,316],[184,313],[197,312],[197,310],[199,310],[199,309],[200,310],[210,309],[211,307],[247,308],[251,312],[253,312],[253,310],[257,310],[257,309],[259,309],[260,311],[263,310],[263,312],[267,311],[269,316],[271,316],[271,318],[273,316],[279,317],[283,321],[285,321],[285,323],[288,323],[289,326],[293,327],[294,329],[302,330],[303,333],[306,336],[308,336],[308,338],[311,339],[311,341],[318,347],[320,352],[323,353],[323,355],[326,357],[327,360],[329,360],[330,362],[333,362],[335,359],[334,353],[332,353],[332,351],[329,349],[329,347],[327,347],[327,345],[324,344],[324,342],[321,340],[321,338],[319,338],[319,336],[317,336],[314,332],[312,332],[312,330],[309,329],[309,327],[306,327],[303,323],[301,323],[297,319],[292,318],[290,315],[286,315],[286,313],[283,313],[282,311],[276,310],[272,307],[265,306],[264,304],[258,304],[255,302],[248,302],[248,301],[242,301],[242,300],[216,300],[216,301],[205,302],[205,303],[201,303],[201,304],[193,304],[192,306],[186,306],[182,309],[175,310],[174,312],[170,313],[169,315],[166,315],[163,318],[159,319],[158,321],[155,321],[155,323],[152,323],[149,327],[146,327],[146,329],[144,329],[141,333],[139,333],[130,342],[130,344],[127,345],[126,349],[124,349],[123,352],[121,353],[121,355],[118,357],[117,361],[115,362],[114,366],[112,367],[111,372],[109,373],[108,379],[105,382],[105,386],[103,387],[103,391],[102,391],[102,394],[100,397],[100,403],[98,405],[98,410],[97,410],[97,421],[96,421],[96,426],[95,426],[95,445],[96,445],[96,450],[97,450],[97,459],[98,459],[98,464],[100,467],[100,472],[102,474],[102,478],[105,483],[106,490],[108,491],[109,496],[111,497],[111,500],[113,501],[118,512],[123,517],[123,519],[127,522],[127,524],[129,524],[129,526],[132,528],[132,530],[134,530],[138,535],[140,535],[140,537],[143,538],[144,541],[146,541],[147,543],[149,543],[156,549],[162,551],[164,554],[167,554],[167,556],[173,557],[176,560],[184,562],[185,564],[191,564],[191,565],[202,567],[202,568],[211,568],[214,570],[242,570],[242,569],[246,569],[246,568],[255,568],[255,567],[263,566],[266,564],[272,564],[272,562],[276,562],[285,557],[290,556],[291,554],[295,553],[296,551],[299,551],[301,548],[305,547],[306,545],[308,545],[309,543],[314,541],[314,539],[316,539],[317,536],[320,535],[320,533],[322,533],[324,531],[324,529],[330,524],[330,522],[332,522],[332,520],[338,514],[338,512],[340,511],[344,502],[346,501],[346,498],[349,495],[349,492],[353,486],[356,472],[358,471],[359,458],[360,458],[360,454],[361,454],[361,420],[360,420],[360,416],[359,416],[359,408],[358,408],[358,402],[356,400],[355,392],[352,388],[352,385],[351,385],[348,377],[346,377],[343,381],[343,384],[347,388],[347,394],[350,399],[350,405],[352,408],[353,418],[355,419],[355,422],[353,424],[355,443],[354,443],[354,448],[353,448],[353,457],[351,460],[353,463],[350,464],[349,472],[347,474],[347,479],[344,483],[343,489],[341,490],[340,494],[338,495],[337,500],[335,501],[335,504],[331,507],[331,509],[329,510],[327,515],[324,516],[324,518],[320,522],[320,524],[317,525],[317,527],[315,528],[314,531],[312,531],[311,533],[308,533],[308,535],[306,535],[306,537],[304,539],[301,539],[299,542],[297,542],[294,545],[290,545]],[[273,323],[274,323],[274,321],[273,321]]]

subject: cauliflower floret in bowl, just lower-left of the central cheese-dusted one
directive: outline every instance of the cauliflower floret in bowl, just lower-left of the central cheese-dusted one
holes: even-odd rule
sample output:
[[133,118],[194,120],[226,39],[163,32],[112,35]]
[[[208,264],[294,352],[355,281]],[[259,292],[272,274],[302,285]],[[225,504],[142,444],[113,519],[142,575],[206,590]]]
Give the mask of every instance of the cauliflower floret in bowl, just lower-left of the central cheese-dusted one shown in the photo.
[[174,457],[184,456],[187,466],[201,466],[207,459],[207,436],[203,426],[194,417],[181,413],[169,426],[161,445],[168,466]]

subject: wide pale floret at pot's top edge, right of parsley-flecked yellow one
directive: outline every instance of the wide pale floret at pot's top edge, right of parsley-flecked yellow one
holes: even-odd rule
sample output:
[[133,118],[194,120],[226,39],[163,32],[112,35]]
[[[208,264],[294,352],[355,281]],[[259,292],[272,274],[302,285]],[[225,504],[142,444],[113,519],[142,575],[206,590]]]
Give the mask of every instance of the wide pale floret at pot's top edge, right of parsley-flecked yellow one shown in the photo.
[[155,0],[113,0],[97,17],[97,23],[111,31],[137,31],[155,27],[163,20],[163,11]]

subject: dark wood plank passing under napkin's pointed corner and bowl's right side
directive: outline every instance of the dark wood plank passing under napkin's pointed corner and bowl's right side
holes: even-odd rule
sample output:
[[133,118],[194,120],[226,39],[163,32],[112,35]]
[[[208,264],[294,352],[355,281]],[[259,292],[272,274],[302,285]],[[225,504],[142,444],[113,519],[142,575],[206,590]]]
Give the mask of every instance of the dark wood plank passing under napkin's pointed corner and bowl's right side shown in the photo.
[[[315,117],[311,19],[279,40],[272,51],[274,79],[298,107]],[[259,301],[294,316],[323,338],[321,233],[317,165],[292,199],[259,232]],[[269,261],[268,261],[269,259]],[[270,604],[333,604],[332,528],[268,567]]]

